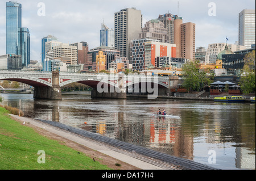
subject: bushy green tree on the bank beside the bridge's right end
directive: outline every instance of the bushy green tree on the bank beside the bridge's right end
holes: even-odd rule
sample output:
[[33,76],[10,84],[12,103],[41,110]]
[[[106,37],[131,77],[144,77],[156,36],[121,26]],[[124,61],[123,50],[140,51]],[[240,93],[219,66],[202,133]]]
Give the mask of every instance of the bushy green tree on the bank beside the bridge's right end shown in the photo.
[[[183,65],[183,86],[189,91],[200,91],[204,86],[209,86],[213,81],[208,76],[209,70],[200,70],[199,61],[190,61]],[[212,73],[210,73],[212,75]]]

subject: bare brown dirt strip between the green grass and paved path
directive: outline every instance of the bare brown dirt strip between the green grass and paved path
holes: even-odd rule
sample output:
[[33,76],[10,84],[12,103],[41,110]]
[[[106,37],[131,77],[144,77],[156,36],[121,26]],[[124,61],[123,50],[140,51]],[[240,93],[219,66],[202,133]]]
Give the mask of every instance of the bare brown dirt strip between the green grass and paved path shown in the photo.
[[[23,123],[23,121],[20,121],[18,119],[15,119],[15,117],[12,117],[15,121],[18,121],[20,124]],[[110,157],[109,155],[100,153],[99,151],[90,149],[84,145],[78,144],[77,142],[68,140],[67,138],[61,137],[57,134],[48,132],[42,128],[38,128],[32,124],[26,124],[27,127],[30,127],[34,129],[37,133],[42,134],[43,136],[46,136],[52,140],[59,141],[60,144],[69,146],[72,149],[77,150],[77,153],[84,153],[87,157],[90,157],[94,159],[97,162],[100,162],[102,165],[108,166],[110,169],[114,170],[140,170],[138,167],[132,166],[128,163],[119,161],[118,159],[115,159],[113,157]],[[118,165],[118,166],[116,166]]]

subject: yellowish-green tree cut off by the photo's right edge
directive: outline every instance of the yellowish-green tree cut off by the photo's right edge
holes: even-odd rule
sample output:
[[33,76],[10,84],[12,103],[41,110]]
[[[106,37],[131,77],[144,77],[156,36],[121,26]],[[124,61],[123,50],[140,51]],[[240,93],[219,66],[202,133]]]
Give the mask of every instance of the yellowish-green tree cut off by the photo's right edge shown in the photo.
[[245,65],[240,79],[241,90],[243,94],[250,94],[255,92],[255,50],[247,53],[243,60]]

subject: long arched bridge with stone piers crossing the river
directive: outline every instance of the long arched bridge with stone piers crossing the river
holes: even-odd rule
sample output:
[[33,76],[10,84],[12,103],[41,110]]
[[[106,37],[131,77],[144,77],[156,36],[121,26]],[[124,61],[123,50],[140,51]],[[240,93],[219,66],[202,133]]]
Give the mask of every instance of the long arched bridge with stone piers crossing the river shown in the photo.
[[26,83],[34,87],[34,98],[61,99],[61,87],[82,83],[92,87],[92,98],[126,98],[126,94],[166,95],[174,84],[171,77],[144,74],[93,74],[59,71],[0,70],[0,80]]

